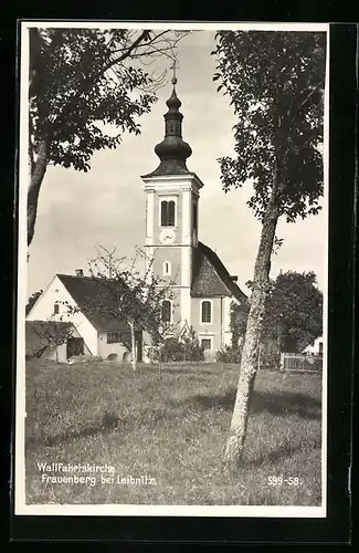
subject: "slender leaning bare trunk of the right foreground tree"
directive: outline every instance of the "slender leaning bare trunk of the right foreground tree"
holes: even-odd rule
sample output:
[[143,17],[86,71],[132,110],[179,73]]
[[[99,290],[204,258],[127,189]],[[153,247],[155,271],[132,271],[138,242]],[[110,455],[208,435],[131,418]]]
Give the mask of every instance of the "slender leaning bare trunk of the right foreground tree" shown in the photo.
[[254,267],[253,290],[241,357],[241,371],[224,461],[230,468],[240,465],[246,435],[249,408],[257,373],[257,348],[267,294],[275,230],[279,217],[276,190],[273,189],[263,219],[261,241]]

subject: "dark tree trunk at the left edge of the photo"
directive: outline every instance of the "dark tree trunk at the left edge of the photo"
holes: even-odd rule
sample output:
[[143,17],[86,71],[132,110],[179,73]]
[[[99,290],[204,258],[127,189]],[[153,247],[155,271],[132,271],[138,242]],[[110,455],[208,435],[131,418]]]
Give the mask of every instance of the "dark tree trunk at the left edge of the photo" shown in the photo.
[[46,139],[42,139],[39,144],[38,158],[33,164],[28,190],[28,246],[31,244],[34,236],[39,192],[46,171],[47,155],[49,143]]

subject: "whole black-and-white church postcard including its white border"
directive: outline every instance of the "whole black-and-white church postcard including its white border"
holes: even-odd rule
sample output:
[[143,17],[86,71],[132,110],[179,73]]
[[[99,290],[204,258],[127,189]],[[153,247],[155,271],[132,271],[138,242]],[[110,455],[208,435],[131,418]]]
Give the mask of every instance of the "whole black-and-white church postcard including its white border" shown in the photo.
[[22,21],[15,514],[326,517],[328,31]]

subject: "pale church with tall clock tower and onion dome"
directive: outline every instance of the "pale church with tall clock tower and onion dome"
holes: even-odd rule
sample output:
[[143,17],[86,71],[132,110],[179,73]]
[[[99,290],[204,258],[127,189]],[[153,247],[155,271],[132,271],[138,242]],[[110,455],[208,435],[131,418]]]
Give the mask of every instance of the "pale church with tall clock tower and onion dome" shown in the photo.
[[[165,138],[155,147],[159,166],[141,177],[146,194],[146,258],[148,267],[171,291],[162,305],[170,327],[192,327],[214,357],[231,343],[231,302],[246,295],[224,264],[199,240],[199,201],[203,182],[187,167],[191,147],[182,139],[183,115],[177,80],[167,101]],[[148,269],[149,270],[149,269]]]

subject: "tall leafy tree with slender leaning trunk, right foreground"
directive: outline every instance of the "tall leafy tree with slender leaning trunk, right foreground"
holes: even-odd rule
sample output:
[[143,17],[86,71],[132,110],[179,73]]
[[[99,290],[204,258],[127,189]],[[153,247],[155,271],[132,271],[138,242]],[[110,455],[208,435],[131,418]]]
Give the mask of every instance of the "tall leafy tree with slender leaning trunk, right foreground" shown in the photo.
[[251,181],[249,206],[262,222],[241,372],[224,460],[241,462],[257,346],[268,292],[271,255],[279,217],[295,222],[318,213],[323,196],[323,112],[326,34],[221,31],[218,69],[231,98],[235,157],[220,159],[223,189]]

